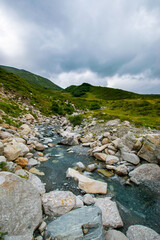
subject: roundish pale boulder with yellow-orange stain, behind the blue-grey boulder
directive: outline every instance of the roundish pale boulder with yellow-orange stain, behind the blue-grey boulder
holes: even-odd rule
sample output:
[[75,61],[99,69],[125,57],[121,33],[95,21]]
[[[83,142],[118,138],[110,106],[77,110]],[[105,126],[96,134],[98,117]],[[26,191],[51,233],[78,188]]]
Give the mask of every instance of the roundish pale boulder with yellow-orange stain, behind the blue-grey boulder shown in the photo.
[[74,208],[76,196],[70,191],[51,191],[43,194],[42,204],[45,214],[60,216]]

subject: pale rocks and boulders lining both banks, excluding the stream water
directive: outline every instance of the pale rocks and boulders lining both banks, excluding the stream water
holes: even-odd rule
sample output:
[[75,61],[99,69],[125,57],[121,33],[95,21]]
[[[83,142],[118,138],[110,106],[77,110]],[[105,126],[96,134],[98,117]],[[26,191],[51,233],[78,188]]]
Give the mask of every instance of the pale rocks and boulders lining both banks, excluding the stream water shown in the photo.
[[[0,239],[160,239],[142,225],[130,226],[126,235],[119,231],[123,221],[116,202],[106,195],[107,183],[83,174],[98,171],[107,178],[123,176],[126,185],[145,185],[160,194],[158,131],[135,128],[119,119],[99,123],[90,117],[73,127],[65,117],[44,117],[38,111],[37,119],[26,114],[20,121],[19,128],[0,127]],[[78,182],[83,195],[56,189],[46,192],[38,177],[44,172],[36,166],[48,161],[43,152],[55,145],[47,139],[41,143],[46,136],[38,130],[40,125],[57,125],[59,144],[88,147],[88,154],[95,158],[95,164],[77,162],[66,172],[67,178]]]

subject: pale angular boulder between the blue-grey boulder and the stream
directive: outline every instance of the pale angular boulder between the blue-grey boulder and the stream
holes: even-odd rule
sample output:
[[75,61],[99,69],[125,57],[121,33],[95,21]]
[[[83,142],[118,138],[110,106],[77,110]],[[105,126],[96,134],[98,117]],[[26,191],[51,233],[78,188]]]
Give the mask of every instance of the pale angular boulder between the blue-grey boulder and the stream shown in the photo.
[[102,221],[105,227],[118,228],[123,226],[117,205],[109,197],[95,199],[94,206],[101,209]]

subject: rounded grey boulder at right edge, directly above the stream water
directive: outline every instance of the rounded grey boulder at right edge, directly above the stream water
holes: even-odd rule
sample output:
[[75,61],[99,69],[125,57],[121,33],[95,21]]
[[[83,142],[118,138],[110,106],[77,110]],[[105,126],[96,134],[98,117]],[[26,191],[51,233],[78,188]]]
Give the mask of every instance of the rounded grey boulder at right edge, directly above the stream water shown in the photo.
[[129,173],[135,184],[144,184],[151,190],[160,192],[160,167],[157,164],[143,164]]

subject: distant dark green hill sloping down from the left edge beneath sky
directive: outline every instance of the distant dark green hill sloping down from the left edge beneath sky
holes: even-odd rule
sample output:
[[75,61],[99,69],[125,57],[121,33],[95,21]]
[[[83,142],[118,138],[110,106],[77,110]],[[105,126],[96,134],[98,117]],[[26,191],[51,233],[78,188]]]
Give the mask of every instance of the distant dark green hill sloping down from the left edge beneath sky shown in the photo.
[[0,68],[6,70],[7,72],[11,72],[13,74],[16,74],[22,79],[25,79],[28,83],[31,85],[34,85],[35,87],[39,86],[45,89],[50,89],[50,90],[61,90],[59,86],[48,80],[47,78],[41,77],[39,75],[36,75],[34,73],[28,72],[23,69],[17,69],[13,67],[7,67],[7,66],[1,66]]

